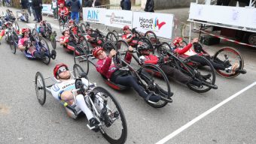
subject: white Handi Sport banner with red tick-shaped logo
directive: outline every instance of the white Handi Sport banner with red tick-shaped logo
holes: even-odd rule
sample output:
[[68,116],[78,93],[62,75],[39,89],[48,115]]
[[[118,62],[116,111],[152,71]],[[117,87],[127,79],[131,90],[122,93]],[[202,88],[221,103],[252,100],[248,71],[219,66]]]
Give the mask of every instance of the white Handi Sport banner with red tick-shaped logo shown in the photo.
[[145,33],[154,31],[158,37],[172,38],[173,14],[133,12],[133,28]]

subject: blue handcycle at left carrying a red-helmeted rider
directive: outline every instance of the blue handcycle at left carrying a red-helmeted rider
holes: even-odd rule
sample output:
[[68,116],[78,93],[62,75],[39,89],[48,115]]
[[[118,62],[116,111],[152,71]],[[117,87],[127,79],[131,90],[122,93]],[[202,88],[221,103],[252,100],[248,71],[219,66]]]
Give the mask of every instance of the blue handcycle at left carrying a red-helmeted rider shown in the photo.
[[[9,38],[11,50],[15,54],[18,47],[19,38],[17,38],[16,34],[14,33],[11,33],[11,35],[9,35]],[[31,39],[35,41],[27,40],[27,44],[30,46],[35,46],[35,50],[38,52],[44,52],[44,56],[38,59],[41,60],[45,65],[48,65],[50,63],[50,58],[56,58],[56,51],[52,49],[52,51],[50,52],[50,47],[48,46],[48,43],[44,38],[41,38],[41,40],[39,40],[38,37],[31,37]],[[26,58],[37,59],[29,52],[28,49],[24,50],[24,54]]]

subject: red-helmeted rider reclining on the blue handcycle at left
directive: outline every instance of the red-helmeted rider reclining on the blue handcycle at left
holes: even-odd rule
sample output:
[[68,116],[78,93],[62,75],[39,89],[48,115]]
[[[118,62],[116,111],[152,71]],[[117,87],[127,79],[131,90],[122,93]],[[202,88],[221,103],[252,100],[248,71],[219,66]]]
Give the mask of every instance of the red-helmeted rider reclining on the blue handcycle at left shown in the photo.
[[18,42],[18,49],[20,49],[21,51],[25,50],[26,53],[31,54],[35,58],[43,58],[45,52],[43,50],[41,52],[38,52],[35,49],[35,40],[33,40],[32,36],[30,35],[30,29],[22,28],[21,31],[22,38]]

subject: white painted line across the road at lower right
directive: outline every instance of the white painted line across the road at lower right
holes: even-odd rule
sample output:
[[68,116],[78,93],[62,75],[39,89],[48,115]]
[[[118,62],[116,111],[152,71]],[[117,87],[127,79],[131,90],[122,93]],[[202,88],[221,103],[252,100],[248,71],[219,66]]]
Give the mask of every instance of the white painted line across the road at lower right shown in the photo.
[[190,127],[192,124],[195,124],[197,121],[200,121],[200,119],[204,118],[206,115],[209,115],[209,113],[212,113],[213,111],[217,110],[219,107],[223,106],[227,102],[231,101],[233,98],[236,98],[238,95],[242,94],[243,92],[247,91],[248,89],[251,89],[251,87],[255,86],[256,82],[251,83],[251,85],[245,87],[245,89],[242,89],[239,92],[236,92],[236,94],[230,96],[230,98],[227,98],[226,100],[222,101],[221,103],[215,105],[215,107],[212,107],[211,109],[207,110],[205,113],[202,113],[201,115],[197,116],[197,118],[194,118],[193,120],[187,122],[187,124],[184,124],[182,127],[178,128],[178,130],[175,130],[174,132],[170,133],[168,136],[161,139],[156,144],[163,144],[167,142],[169,139],[172,139],[172,137],[178,135],[178,133],[181,133],[183,130]]

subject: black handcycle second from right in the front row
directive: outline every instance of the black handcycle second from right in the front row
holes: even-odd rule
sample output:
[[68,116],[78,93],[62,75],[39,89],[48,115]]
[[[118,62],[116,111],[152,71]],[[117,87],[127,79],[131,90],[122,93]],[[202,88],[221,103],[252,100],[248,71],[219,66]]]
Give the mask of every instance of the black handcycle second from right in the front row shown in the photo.
[[[158,44],[157,54],[163,60],[163,62],[160,60],[160,65],[169,65],[172,68],[176,68],[183,74],[201,83],[201,86],[194,86],[191,83],[187,84],[187,87],[194,92],[203,93],[208,92],[210,89],[218,89],[215,85],[215,69],[207,58],[199,55],[182,58],[180,55],[173,53],[171,46],[166,42]],[[194,58],[200,59],[206,65],[200,65],[198,62],[194,62]]]

